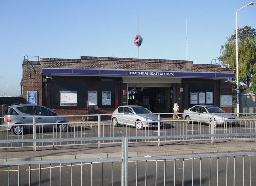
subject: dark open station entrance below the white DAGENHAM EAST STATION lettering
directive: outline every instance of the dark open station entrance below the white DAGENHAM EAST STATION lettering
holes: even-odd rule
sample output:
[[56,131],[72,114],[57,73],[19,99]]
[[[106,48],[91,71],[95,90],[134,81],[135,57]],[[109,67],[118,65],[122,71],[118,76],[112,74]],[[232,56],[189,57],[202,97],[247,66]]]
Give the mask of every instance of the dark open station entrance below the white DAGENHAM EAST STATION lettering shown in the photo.
[[[128,105],[138,104],[156,113],[155,104],[160,98],[161,113],[171,113],[173,105],[172,87],[128,87]],[[138,100],[136,102],[136,100]]]

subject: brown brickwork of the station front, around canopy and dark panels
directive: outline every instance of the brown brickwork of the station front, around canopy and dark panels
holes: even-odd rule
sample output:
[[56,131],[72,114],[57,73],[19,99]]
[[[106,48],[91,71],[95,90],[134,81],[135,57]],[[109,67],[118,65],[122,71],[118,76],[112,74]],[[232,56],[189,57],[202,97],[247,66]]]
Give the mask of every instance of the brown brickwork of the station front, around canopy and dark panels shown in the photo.
[[[51,82],[85,82],[87,91],[95,91],[98,88],[97,77],[95,76],[55,76],[43,82],[41,75],[42,68],[60,69],[116,69],[116,70],[153,70],[153,71],[174,71],[174,72],[210,72],[210,73],[233,73],[229,68],[221,68],[220,65],[193,64],[192,61],[164,60],[164,59],[134,59],[134,58],[112,58],[112,57],[91,57],[81,56],[80,59],[40,58],[40,61],[23,61],[23,89],[22,96],[27,99],[27,91],[38,91],[38,103],[51,108]],[[121,90],[127,89],[127,83],[118,83],[118,77],[113,78],[115,83],[115,100],[119,105],[126,102],[121,96]],[[189,107],[188,87],[191,83],[210,83],[214,86],[214,104],[220,106],[221,94],[232,94],[231,83],[220,79],[198,79],[183,78],[186,83],[175,84],[174,93],[180,98],[179,105],[182,109]],[[172,88],[171,88],[172,89]],[[183,90],[183,91],[182,91]],[[171,100],[171,104],[174,103]],[[116,106],[116,105],[115,105]],[[87,108],[87,105],[84,105]],[[223,108],[225,111],[232,111],[232,108]],[[230,110],[231,109],[231,110]],[[111,114],[113,108],[103,109],[95,107],[95,113]],[[63,115],[87,114],[86,109],[56,109],[56,112]]]

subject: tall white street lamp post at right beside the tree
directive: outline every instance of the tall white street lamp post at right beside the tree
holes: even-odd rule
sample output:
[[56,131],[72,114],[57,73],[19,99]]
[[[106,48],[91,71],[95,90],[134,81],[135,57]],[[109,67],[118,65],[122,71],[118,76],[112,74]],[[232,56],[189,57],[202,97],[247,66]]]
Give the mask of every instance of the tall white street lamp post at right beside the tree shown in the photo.
[[[251,6],[254,3],[248,3],[247,5],[243,6],[242,8],[238,9],[241,10],[243,8],[245,8],[246,6]],[[238,79],[238,27],[237,27],[237,13],[238,10],[236,10],[236,93],[237,93],[237,105],[236,105],[236,112],[237,112],[237,116],[239,116],[239,79]]]

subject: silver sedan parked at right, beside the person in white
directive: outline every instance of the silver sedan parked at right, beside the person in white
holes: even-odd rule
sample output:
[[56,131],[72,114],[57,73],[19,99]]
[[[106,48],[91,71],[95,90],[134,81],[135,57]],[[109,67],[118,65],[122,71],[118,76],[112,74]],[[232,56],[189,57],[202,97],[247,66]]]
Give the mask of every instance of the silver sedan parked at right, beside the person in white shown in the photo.
[[[212,118],[214,116],[214,118]],[[223,124],[236,124],[237,117],[225,113],[221,108],[214,105],[195,105],[183,111],[182,117],[187,120],[189,124],[192,121],[209,123],[210,126]]]

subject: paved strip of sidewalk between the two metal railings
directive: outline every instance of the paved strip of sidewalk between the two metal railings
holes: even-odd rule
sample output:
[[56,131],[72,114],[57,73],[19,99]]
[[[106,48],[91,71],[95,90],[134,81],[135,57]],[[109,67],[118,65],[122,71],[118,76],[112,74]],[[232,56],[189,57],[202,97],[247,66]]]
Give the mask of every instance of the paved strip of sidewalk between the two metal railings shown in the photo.
[[[251,117],[247,119],[252,119]],[[189,155],[220,152],[256,151],[256,139],[221,139],[199,141],[170,141],[158,146],[157,142],[135,142],[128,144],[128,157]],[[0,149],[0,162],[39,161],[63,159],[91,159],[121,157],[121,144],[86,144]]]

